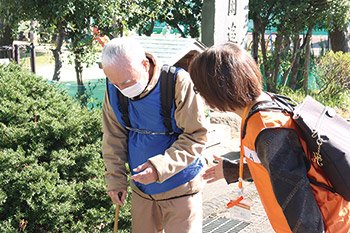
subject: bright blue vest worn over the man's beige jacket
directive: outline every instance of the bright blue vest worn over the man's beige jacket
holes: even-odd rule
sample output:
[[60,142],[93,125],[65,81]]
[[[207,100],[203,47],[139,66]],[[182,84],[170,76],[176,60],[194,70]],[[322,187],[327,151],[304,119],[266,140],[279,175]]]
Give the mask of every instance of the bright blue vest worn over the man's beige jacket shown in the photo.
[[[176,79],[176,74],[174,79]],[[175,83],[175,81],[174,81]],[[109,101],[118,122],[126,127],[122,120],[122,113],[119,110],[120,103],[118,99],[117,89],[107,79],[107,88],[109,93]],[[167,128],[163,123],[163,114],[160,100],[160,78],[155,88],[144,98],[138,100],[130,100],[129,102],[129,119],[131,128],[128,138],[128,162],[131,174],[135,174],[132,170],[139,165],[145,163],[149,158],[164,154],[165,150],[171,147],[176,141],[177,135],[182,131],[176,126],[174,111],[175,102],[171,110],[172,127],[176,134],[150,134],[150,132],[164,133]],[[189,116],[190,117],[190,116]],[[144,193],[154,195],[174,189],[182,184],[192,180],[203,168],[200,158],[197,158],[189,166],[182,171],[173,175],[163,183],[151,183],[144,185],[135,182],[136,186]]]

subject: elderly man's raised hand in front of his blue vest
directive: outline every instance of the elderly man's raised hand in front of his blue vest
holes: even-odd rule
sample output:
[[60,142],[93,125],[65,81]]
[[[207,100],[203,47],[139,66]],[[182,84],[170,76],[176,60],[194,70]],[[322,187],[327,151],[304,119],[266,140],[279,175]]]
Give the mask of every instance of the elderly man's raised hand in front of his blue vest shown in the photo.
[[131,176],[130,178],[141,184],[150,184],[158,180],[158,173],[154,166],[150,162],[141,164],[133,170],[134,172],[140,172]]

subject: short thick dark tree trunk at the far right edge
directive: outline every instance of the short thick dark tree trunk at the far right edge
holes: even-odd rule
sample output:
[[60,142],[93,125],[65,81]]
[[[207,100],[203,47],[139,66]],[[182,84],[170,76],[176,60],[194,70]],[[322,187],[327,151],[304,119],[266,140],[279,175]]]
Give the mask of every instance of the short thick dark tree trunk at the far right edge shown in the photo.
[[350,52],[350,26],[346,24],[343,28],[335,28],[329,31],[329,37],[333,52]]

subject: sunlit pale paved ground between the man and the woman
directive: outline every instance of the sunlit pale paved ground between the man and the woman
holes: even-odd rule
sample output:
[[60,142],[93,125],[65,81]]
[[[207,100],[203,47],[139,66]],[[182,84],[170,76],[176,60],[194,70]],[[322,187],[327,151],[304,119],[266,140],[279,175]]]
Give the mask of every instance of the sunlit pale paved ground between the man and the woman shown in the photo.
[[[209,160],[209,165],[212,163],[212,155],[223,155],[228,158],[238,158],[239,156],[239,139],[234,138],[218,145],[208,148],[205,151],[205,157]],[[270,222],[262,207],[259,195],[255,189],[253,182],[244,182],[245,199],[251,205],[251,216],[249,225],[240,230],[240,233],[270,233],[274,232]],[[203,219],[223,217],[227,219],[237,219],[232,217],[226,204],[237,192],[237,184],[227,185],[225,180],[220,180],[215,183],[205,184],[203,190]],[[241,221],[241,220],[240,220]],[[229,231],[226,231],[229,232]],[[237,232],[237,231],[232,231]]]

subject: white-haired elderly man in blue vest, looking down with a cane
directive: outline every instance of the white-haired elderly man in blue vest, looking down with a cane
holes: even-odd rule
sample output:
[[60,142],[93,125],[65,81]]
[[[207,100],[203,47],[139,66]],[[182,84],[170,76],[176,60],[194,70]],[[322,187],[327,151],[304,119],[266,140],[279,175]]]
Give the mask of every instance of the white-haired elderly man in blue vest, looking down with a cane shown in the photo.
[[189,74],[175,71],[169,130],[161,107],[162,67],[151,54],[131,38],[116,38],[103,49],[102,67],[107,77],[102,149],[108,195],[124,204],[128,163],[133,232],[201,232],[200,154],[207,130],[203,102]]

